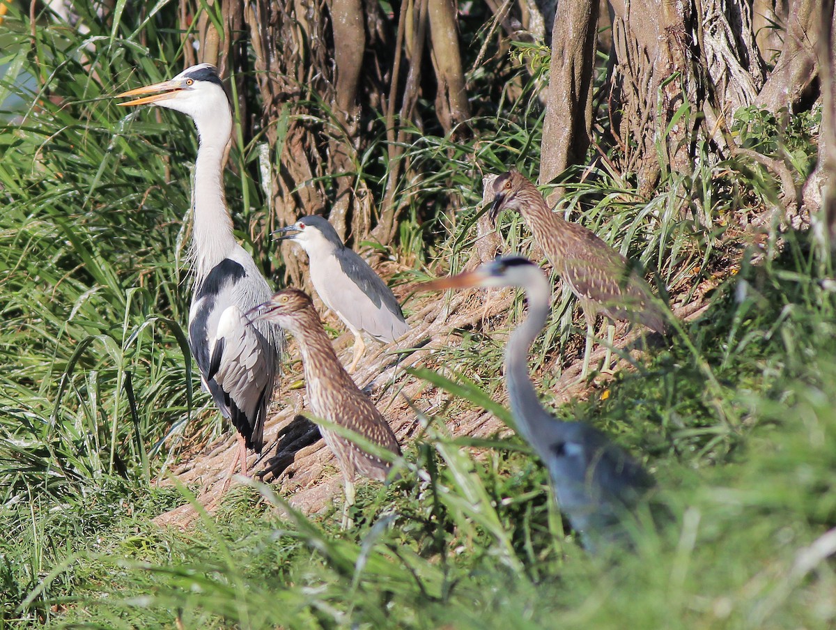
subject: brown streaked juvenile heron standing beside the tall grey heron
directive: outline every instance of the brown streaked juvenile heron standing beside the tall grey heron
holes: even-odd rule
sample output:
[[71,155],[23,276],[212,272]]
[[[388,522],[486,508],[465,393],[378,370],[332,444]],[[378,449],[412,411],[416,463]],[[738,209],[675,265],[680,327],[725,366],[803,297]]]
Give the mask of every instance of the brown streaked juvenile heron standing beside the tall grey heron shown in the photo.
[[[296,337],[302,353],[308,404],[314,416],[348,428],[370,443],[400,455],[395,433],[339,362],[314,303],[307,294],[298,289],[283,289],[250,311],[248,316],[254,321],[281,325]],[[320,427],[320,431],[343,471],[343,526],[346,527],[350,525],[349,508],[354,504],[354,479],[361,474],[385,481],[391,465],[327,428]]]

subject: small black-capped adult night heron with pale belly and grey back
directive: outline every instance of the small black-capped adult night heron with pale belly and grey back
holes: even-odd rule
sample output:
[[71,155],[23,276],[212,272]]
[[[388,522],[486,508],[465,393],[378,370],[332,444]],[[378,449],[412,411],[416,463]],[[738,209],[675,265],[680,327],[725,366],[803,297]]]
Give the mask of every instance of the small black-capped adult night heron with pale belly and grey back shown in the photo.
[[322,217],[303,217],[273,234],[299,243],[308,254],[311,283],[324,305],[354,333],[354,361],[363,356],[363,334],[391,343],[410,330],[398,300],[383,279],[352,249],[345,247],[334,227]]

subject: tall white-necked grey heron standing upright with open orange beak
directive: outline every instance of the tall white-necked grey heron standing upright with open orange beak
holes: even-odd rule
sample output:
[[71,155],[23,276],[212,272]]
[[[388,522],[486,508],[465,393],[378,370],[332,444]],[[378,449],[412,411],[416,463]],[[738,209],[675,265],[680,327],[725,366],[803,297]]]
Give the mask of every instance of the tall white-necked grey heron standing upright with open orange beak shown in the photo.
[[[232,235],[223,192],[223,155],[232,134],[232,110],[217,69],[192,66],[162,83],[118,96],[140,96],[119,105],[152,104],[191,116],[200,137],[194,172],[191,241],[195,285],[189,310],[189,346],[223,417],[238,430],[238,460],[247,474],[247,448],[261,453],[264,420],[273,397],[284,344],[268,321],[250,324],[244,313],[273,291],[252,256]],[[233,460],[229,477],[235,469]]]

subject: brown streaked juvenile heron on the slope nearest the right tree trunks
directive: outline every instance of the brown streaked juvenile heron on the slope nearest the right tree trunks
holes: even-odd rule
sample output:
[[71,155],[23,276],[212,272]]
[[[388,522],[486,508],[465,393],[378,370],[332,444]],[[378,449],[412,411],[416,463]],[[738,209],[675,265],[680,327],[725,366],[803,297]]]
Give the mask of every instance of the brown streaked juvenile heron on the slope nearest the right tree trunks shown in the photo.
[[[580,301],[586,320],[582,378],[589,371],[597,313],[609,320],[639,320],[651,330],[665,333],[665,313],[657,305],[650,286],[628,259],[588,228],[569,223],[553,213],[537,187],[516,169],[497,177],[493,190],[496,197],[491,208],[492,220],[496,221],[503,210],[522,214],[534,240]],[[604,369],[609,367],[613,333],[614,327],[609,325]]]

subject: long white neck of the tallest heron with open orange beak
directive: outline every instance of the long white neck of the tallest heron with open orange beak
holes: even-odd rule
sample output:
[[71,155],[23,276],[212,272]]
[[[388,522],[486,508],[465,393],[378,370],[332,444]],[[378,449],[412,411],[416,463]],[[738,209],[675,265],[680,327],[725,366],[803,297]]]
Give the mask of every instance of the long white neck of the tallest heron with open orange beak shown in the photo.
[[236,247],[232,218],[223,192],[223,156],[232,133],[232,115],[228,120],[195,119],[200,146],[195,162],[192,194],[195,222],[192,255],[197,279],[206,277]]

